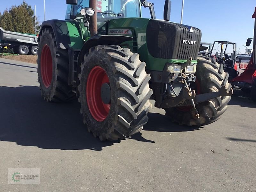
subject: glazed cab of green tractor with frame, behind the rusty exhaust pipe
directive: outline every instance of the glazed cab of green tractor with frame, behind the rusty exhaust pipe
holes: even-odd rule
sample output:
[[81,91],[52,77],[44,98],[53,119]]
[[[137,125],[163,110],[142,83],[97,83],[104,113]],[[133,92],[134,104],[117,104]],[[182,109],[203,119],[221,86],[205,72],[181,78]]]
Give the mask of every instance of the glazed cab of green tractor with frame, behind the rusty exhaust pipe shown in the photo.
[[114,0],[98,0],[95,11],[89,8],[89,0],[77,0],[77,4],[68,4],[65,19],[76,21],[84,41],[90,38],[90,31],[88,30],[90,18],[88,20],[85,18],[85,15],[88,15],[87,12],[90,11],[97,15],[98,35],[106,35],[106,23],[109,20],[141,17],[139,0],[115,0],[115,3]]

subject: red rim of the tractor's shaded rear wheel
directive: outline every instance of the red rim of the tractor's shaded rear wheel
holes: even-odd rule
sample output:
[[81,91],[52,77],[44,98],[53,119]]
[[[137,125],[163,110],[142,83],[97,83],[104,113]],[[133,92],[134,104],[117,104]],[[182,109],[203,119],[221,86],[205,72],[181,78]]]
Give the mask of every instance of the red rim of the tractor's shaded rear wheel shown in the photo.
[[41,54],[41,76],[44,86],[50,87],[52,83],[52,55],[48,45],[44,45]]

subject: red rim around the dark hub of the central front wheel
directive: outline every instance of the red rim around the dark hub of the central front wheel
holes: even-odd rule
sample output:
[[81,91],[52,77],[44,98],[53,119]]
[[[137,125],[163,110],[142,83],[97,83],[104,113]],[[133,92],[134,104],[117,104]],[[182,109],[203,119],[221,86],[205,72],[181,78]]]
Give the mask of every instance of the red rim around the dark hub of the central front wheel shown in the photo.
[[101,86],[109,83],[108,76],[103,68],[95,66],[89,73],[86,83],[86,101],[92,117],[99,122],[104,121],[110,109],[110,104],[101,99]]

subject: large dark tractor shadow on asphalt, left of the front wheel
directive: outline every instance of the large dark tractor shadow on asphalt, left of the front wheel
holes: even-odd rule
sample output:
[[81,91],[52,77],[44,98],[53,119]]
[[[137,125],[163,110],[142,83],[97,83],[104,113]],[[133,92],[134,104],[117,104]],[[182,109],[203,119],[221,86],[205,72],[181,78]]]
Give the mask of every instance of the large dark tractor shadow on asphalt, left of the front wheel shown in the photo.
[[0,140],[44,149],[102,150],[102,142],[87,131],[77,100],[48,103],[39,87],[0,87]]

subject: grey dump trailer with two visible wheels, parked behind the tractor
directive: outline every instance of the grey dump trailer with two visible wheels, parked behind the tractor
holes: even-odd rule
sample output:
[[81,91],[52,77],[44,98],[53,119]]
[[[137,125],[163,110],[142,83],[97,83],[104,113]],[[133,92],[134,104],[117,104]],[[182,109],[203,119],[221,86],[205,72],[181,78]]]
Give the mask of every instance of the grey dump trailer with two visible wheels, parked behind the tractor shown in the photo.
[[12,44],[13,51],[20,55],[37,55],[37,36],[33,34],[5,31],[0,27],[0,41],[5,44]]

